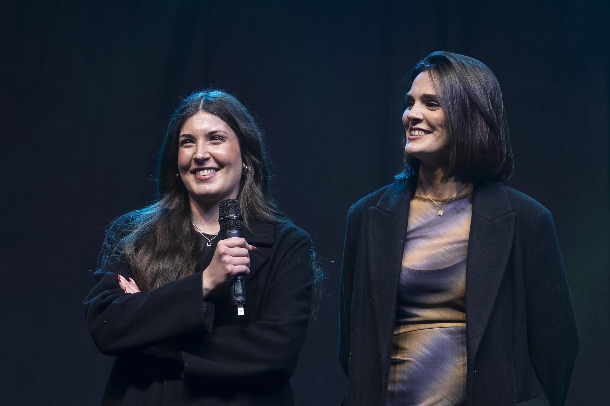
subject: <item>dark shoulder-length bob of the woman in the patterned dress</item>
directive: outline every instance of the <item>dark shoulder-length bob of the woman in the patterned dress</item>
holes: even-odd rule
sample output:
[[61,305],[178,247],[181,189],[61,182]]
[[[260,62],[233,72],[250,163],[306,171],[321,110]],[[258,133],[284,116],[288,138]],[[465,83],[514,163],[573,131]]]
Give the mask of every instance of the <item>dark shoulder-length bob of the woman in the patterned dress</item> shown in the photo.
[[[491,69],[465,55],[432,52],[407,75],[407,91],[424,71],[430,74],[447,118],[450,148],[443,181],[455,177],[467,183],[507,182],[514,163],[502,92]],[[405,154],[396,179],[417,176],[419,164]]]

